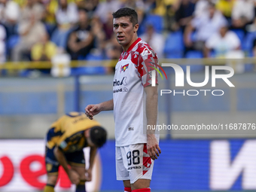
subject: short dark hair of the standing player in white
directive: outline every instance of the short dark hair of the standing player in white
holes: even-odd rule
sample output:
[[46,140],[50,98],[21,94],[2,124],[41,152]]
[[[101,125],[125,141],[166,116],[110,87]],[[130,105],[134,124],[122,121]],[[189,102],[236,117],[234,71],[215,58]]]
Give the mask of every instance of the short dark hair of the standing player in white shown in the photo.
[[120,18],[120,17],[130,17],[130,22],[133,23],[135,26],[138,23],[138,14],[132,8],[120,8],[115,11],[113,14],[113,18]]

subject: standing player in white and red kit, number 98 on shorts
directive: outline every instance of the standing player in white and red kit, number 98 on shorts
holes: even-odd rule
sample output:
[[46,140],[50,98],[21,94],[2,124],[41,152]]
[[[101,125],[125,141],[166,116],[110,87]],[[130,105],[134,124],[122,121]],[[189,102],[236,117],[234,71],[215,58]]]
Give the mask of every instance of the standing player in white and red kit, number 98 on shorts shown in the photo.
[[157,80],[151,86],[157,54],[138,38],[136,11],[120,8],[113,18],[114,35],[123,47],[115,67],[113,99],[87,105],[85,113],[93,119],[100,111],[114,109],[117,180],[123,181],[125,191],[148,192],[154,160],[161,153],[159,135],[147,129],[157,124]]

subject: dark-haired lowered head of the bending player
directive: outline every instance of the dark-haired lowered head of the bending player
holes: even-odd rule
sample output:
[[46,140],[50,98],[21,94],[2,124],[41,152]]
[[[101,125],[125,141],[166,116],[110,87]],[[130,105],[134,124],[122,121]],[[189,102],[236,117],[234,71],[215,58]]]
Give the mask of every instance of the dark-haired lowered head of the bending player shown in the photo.
[[93,126],[90,129],[90,139],[97,148],[101,148],[107,141],[107,132],[102,126]]

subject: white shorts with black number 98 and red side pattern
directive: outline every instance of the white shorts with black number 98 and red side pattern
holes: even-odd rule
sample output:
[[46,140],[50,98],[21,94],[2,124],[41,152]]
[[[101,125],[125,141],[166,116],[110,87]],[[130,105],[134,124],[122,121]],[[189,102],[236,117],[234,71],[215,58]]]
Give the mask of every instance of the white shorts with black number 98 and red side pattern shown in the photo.
[[147,144],[136,144],[115,148],[117,180],[130,180],[133,184],[139,178],[150,179],[154,160],[147,151]]

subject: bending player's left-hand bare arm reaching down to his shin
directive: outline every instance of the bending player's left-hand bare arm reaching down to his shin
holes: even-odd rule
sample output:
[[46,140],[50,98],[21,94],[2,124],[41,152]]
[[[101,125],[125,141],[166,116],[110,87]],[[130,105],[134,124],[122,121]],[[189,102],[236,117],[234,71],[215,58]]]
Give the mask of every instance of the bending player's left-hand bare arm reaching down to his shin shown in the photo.
[[79,184],[80,177],[78,175],[78,172],[75,172],[75,170],[73,169],[69,169],[68,162],[63,152],[56,146],[53,150],[53,153],[56,159],[58,160],[59,164],[63,167],[65,172],[69,175],[69,179],[70,181],[72,181],[72,184]]

